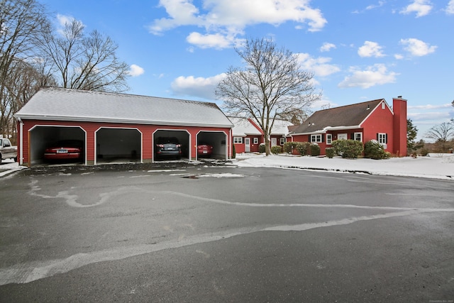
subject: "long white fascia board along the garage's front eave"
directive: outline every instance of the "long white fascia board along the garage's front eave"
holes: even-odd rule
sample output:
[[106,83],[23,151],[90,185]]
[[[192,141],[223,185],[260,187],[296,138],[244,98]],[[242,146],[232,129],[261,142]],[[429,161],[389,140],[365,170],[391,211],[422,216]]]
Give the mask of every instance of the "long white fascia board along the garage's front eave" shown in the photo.
[[28,115],[15,114],[16,118],[29,120],[52,120],[52,121],[74,121],[74,122],[104,122],[104,123],[126,123],[126,124],[146,124],[146,125],[168,125],[168,126],[196,126],[196,127],[221,127],[233,128],[233,124],[213,124],[213,123],[179,123],[177,121],[149,121],[135,119],[111,119],[102,117],[74,117],[74,116],[48,116],[48,115]]

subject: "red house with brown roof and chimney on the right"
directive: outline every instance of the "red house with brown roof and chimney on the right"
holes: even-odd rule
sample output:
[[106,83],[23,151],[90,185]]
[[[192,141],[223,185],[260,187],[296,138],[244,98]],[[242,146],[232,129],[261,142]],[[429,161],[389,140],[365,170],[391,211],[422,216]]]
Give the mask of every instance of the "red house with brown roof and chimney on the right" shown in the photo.
[[375,139],[389,153],[406,156],[406,99],[399,96],[392,104],[391,109],[384,99],[377,99],[316,111],[294,128],[292,141],[317,143],[324,155],[335,140]]

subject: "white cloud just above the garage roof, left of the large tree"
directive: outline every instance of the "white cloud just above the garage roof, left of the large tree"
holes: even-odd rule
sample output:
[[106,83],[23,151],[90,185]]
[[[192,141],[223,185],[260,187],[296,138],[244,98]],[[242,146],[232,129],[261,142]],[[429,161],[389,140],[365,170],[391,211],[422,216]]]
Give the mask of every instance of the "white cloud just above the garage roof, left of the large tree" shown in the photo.
[[214,91],[216,90],[218,83],[225,77],[226,74],[220,74],[208,78],[180,76],[172,82],[172,92],[182,96],[192,96],[214,100],[216,99]]

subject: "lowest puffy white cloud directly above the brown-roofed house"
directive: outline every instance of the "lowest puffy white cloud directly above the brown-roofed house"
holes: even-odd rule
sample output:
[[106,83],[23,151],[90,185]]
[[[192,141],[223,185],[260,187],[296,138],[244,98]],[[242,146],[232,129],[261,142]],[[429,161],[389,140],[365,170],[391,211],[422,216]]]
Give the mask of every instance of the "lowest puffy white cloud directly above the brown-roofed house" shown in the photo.
[[394,83],[396,76],[399,75],[396,72],[389,72],[387,67],[382,64],[376,64],[367,67],[366,70],[359,70],[358,67],[350,67],[352,75],[345,77],[338,87],[362,87],[367,89],[375,85]]

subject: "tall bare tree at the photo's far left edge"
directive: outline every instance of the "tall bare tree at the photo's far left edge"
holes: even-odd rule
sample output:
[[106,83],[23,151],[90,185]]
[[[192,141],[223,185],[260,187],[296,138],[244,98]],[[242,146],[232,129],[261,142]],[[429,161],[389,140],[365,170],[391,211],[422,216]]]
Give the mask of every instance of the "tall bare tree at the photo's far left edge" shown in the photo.
[[18,71],[35,57],[38,36],[47,25],[45,8],[37,1],[0,0],[0,134],[11,135],[12,114],[18,104],[28,100],[26,87],[21,87],[19,94],[11,90],[12,84],[18,87],[23,83]]

